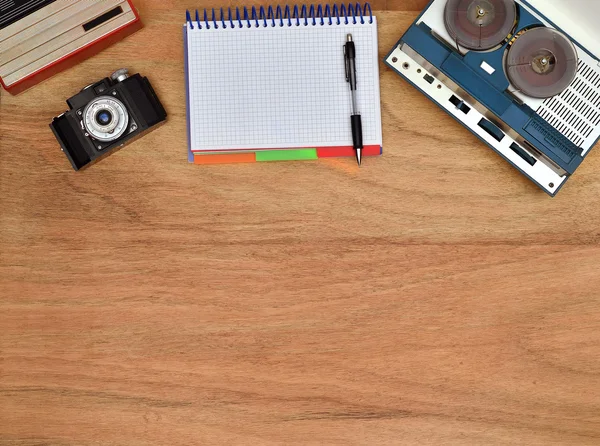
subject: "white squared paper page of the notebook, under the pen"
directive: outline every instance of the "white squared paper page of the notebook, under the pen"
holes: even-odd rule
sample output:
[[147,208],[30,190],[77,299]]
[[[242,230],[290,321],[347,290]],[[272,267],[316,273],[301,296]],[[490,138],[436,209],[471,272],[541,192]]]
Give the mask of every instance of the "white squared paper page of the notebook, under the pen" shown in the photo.
[[192,151],[352,146],[343,46],[356,46],[364,145],[381,145],[377,24],[188,24]]

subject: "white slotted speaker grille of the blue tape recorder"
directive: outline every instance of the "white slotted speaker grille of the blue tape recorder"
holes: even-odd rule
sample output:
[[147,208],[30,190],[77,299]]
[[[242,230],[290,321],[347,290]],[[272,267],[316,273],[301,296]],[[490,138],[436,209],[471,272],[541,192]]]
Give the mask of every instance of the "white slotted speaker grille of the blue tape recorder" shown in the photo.
[[600,125],[600,71],[579,60],[575,80],[560,95],[546,99],[537,113],[581,147]]

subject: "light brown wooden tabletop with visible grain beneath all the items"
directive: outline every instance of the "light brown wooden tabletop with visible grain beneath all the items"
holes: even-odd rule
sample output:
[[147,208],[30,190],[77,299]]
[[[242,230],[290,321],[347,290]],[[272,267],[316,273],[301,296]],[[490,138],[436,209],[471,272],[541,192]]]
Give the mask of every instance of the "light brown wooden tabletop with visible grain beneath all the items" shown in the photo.
[[[227,4],[136,3],[0,96],[0,444],[600,444],[600,153],[551,199],[382,63],[361,169],[192,166],[184,11]],[[74,173],[48,123],[122,66],[168,125]]]

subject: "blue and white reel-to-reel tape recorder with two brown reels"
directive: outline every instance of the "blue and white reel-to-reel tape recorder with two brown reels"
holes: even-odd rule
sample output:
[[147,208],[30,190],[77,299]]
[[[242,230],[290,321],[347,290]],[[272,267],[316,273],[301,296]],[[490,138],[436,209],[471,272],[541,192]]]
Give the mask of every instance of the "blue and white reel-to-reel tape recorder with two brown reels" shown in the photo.
[[600,137],[598,59],[541,13],[576,1],[432,0],[386,63],[554,196]]

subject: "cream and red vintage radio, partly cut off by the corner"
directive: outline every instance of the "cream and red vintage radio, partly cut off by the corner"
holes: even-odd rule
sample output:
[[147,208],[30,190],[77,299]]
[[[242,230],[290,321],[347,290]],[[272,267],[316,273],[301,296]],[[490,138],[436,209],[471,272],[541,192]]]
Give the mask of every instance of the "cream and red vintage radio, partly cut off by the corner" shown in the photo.
[[0,0],[0,84],[20,93],[141,27],[131,0]]

